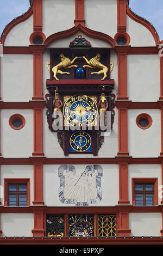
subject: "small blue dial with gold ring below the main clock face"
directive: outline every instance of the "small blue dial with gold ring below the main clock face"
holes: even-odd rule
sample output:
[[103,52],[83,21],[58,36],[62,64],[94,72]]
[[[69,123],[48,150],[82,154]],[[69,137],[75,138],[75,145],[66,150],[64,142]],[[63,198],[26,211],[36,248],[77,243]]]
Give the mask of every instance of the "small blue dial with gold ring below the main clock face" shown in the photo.
[[92,140],[88,132],[77,131],[72,132],[70,137],[70,151],[84,152],[92,151]]

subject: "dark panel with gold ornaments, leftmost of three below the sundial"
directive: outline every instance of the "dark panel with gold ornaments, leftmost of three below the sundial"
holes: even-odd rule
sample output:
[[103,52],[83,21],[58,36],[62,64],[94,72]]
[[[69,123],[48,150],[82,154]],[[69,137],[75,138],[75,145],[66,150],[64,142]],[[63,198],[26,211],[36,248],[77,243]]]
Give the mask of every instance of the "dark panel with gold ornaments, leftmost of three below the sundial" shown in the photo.
[[46,216],[46,235],[48,237],[65,236],[64,215],[47,215]]

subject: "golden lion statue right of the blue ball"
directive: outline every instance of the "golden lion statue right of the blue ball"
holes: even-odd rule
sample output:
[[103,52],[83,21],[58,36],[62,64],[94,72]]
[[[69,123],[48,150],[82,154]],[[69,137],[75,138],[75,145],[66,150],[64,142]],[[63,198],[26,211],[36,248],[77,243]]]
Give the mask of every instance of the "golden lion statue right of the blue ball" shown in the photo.
[[[88,65],[83,65],[83,68],[90,68],[90,69],[99,68],[99,69],[101,69],[98,72],[91,72],[91,75],[93,75],[93,74],[96,74],[96,75],[104,74],[104,77],[101,80],[104,80],[107,77],[106,73],[108,72],[108,68],[106,66],[104,66],[102,63],[99,62],[99,60],[101,59],[101,54],[97,53],[97,55],[95,57],[93,57],[92,59],[90,59],[90,60],[87,60],[85,58],[85,56],[83,56],[83,59],[85,59],[86,63],[88,64]],[[110,64],[112,65],[111,69],[110,69],[110,72],[111,72],[112,68],[114,66],[114,63],[110,62]]]

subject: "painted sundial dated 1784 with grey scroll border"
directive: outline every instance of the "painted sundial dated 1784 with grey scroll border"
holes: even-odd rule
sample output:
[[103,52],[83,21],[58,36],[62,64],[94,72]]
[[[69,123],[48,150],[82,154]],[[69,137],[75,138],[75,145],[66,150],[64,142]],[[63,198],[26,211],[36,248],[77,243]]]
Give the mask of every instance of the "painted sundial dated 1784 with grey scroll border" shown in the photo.
[[74,166],[60,166],[60,201],[80,206],[99,203],[102,199],[102,174],[99,165],[87,166],[84,171],[76,170]]

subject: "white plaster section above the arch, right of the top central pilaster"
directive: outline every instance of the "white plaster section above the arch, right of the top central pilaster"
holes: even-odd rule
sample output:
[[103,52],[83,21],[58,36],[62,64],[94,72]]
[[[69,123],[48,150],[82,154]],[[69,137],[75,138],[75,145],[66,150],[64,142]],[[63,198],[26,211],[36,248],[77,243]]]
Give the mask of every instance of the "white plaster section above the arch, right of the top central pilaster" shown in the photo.
[[85,26],[114,38],[117,33],[117,1],[85,0]]

